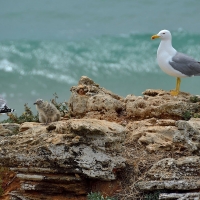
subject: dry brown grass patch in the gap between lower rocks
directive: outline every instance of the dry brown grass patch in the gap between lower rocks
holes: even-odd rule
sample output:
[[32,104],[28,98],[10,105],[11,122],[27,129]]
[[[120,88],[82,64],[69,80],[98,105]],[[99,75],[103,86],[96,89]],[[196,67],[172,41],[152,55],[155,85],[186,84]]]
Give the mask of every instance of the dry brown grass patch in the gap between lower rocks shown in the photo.
[[149,153],[145,146],[134,142],[125,143],[123,156],[127,159],[127,166],[119,174],[122,191],[117,194],[120,200],[143,200],[144,193],[137,188],[137,182],[145,180],[146,172],[163,158],[173,157],[172,151]]

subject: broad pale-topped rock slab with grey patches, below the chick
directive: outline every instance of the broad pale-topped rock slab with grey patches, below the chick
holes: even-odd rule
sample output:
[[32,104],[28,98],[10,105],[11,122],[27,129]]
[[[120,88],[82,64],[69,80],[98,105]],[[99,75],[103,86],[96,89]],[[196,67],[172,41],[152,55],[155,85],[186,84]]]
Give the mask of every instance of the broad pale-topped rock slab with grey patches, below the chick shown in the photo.
[[125,138],[124,127],[92,119],[54,124],[58,127],[51,132],[38,126],[5,137],[0,163],[8,167],[71,168],[88,177],[115,179],[113,170],[124,166],[124,159],[118,156]]

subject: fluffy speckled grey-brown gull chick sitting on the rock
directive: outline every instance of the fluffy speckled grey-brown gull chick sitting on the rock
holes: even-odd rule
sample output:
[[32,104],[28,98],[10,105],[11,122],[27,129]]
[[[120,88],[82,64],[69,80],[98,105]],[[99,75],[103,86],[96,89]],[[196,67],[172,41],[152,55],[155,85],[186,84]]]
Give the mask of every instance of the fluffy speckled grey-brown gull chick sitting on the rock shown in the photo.
[[60,112],[52,103],[37,99],[34,104],[39,114],[39,122],[48,124],[60,120]]

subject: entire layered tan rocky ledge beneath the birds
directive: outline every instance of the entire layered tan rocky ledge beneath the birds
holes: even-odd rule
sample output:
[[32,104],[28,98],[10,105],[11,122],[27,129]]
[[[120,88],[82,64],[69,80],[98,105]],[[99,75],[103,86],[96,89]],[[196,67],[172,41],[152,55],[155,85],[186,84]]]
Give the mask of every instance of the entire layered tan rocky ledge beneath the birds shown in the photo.
[[[146,90],[126,98],[81,77],[48,126],[0,125],[2,199],[200,199],[200,100]],[[10,169],[11,171],[7,171]]]

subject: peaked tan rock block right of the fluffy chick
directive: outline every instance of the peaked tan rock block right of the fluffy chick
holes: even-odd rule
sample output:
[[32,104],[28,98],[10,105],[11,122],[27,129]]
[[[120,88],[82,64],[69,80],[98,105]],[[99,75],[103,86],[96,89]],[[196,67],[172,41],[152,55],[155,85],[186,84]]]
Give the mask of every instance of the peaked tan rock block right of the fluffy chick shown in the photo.
[[86,76],[71,88],[69,112],[72,116],[119,121],[125,109],[123,98],[101,88]]

